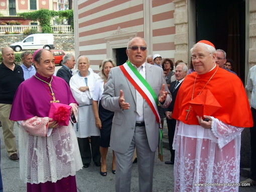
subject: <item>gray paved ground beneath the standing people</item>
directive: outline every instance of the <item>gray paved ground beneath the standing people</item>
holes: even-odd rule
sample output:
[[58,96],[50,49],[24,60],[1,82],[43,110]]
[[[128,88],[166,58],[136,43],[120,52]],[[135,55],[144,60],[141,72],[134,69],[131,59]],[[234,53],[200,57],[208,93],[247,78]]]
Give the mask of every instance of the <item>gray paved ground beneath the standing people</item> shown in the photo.
[[[18,126],[15,123],[15,133],[18,135]],[[167,128],[164,127],[164,143],[167,144]],[[3,141],[3,132],[0,128],[0,138],[1,138],[1,169],[5,192],[13,191],[26,191],[26,184],[23,183],[19,175],[19,162],[14,162],[8,158],[8,153],[6,152],[5,144]],[[17,136],[18,144],[18,136]],[[169,150],[164,148],[164,160],[170,159]],[[101,176],[99,174],[99,167],[91,164],[88,168],[83,168],[79,170],[76,174],[77,189],[79,192],[108,192],[114,191],[114,174],[111,172],[111,151],[109,150],[107,156],[107,176]],[[241,180],[244,177],[240,178]],[[154,192],[173,192],[173,165],[166,165],[161,162],[156,153],[155,168],[154,168]],[[133,164],[132,173],[132,185],[131,191],[139,191],[138,186],[138,171],[137,164]],[[239,192],[252,192],[256,191],[256,186],[239,188]],[[49,191],[50,192],[50,191]]]

